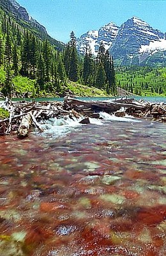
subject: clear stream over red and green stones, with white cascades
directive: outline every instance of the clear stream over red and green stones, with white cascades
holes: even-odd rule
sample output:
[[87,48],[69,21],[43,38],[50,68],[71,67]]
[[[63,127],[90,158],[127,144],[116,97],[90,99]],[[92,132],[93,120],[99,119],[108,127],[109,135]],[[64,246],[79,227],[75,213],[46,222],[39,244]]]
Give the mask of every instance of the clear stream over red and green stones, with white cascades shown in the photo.
[[101,115],[0,138],[1,256],[165,255],[165,124]]

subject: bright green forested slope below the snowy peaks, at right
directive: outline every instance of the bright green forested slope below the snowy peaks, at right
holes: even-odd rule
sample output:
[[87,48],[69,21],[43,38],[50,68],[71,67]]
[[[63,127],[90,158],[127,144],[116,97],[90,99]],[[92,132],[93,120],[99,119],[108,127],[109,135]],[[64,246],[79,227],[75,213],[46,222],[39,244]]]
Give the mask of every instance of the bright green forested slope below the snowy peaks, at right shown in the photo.
[[166,68],[121,67],[116,70],[117,86],[136,95],[166,95]]

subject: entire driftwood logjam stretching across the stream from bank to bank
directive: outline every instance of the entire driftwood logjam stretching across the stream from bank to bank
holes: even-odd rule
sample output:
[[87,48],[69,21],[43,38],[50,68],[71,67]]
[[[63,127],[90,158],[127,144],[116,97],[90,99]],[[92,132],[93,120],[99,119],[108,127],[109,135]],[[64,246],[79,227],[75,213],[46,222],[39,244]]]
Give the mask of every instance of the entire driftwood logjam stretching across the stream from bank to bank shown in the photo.
[[0,107],[10,112],[9,118],[0,120],[0,135],[17,131],[19,138],[25,138],[31,126],[37,127],[40,132],[43,132],[41,124],[49,118],[84,116],[85,118],[80,122],[86,124],[86,118],[99,118],[98,113],[101,111],[116,116],[124,116],[127,113],[139,118],[155,118],[155,120],[166,122],[166,104],[135,99],[83,101],[64,97],[63,102],[11,102],[6,99],[0,104]]

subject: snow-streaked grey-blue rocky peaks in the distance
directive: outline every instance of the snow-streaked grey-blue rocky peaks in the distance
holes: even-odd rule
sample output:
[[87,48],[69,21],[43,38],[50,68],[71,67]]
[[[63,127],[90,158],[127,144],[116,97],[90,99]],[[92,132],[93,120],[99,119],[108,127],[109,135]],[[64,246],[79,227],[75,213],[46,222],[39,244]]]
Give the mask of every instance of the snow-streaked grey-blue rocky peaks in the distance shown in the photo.
[[[166,33],[153,29],[137,17],[126,20],[120,27],[110,22],[99,30],[87,31],[78,38],[77,49],[84,54],[86,45],[89,45],[96,55],[100,42],[110,51],[117,65],[145,65],[146,61],[151,62],[151,57],[152,65],[156,62],[166,65]],[[162,58],[154,62],[155,54]]]

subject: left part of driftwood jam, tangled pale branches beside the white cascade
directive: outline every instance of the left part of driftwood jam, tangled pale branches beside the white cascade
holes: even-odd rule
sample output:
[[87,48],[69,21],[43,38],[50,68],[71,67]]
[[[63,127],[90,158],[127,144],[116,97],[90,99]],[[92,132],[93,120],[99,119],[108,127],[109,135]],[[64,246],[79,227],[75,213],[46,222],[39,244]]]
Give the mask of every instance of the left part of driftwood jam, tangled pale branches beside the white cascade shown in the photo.
[[31,126],[37,127],[43,132],[41,124],[54,117],[68,115],[77,117],[75,111],[67,111],[63,108],[63,102],[11,102],[6,100],[1,107],[10,112],[10,117],[0,120],[0,135],[17,131],[19,138],[28,136]]

